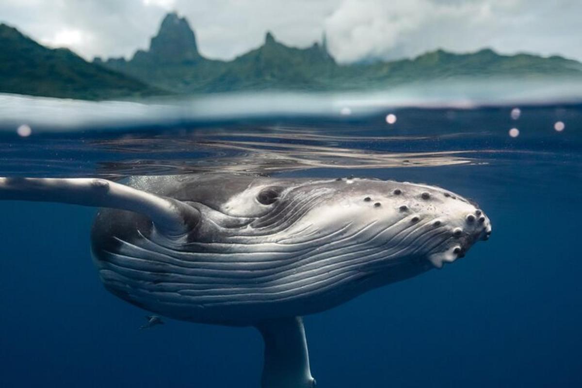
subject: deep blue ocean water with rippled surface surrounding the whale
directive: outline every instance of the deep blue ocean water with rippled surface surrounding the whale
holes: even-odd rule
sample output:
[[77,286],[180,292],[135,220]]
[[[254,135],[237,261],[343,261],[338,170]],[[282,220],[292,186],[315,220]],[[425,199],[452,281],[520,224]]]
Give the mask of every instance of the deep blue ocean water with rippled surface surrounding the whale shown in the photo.
[[[582,386],[582,105],[328,99],[221,115],[218,101],[193,115],[169,102],[0,99],[0,176],[353,175],[469,197],[491,239],[304,318],[318,386]],[[253,328],[166,319],[138,330],[148,313],[93,268],[95,212],[0,202],[0,386],[258,387]]]

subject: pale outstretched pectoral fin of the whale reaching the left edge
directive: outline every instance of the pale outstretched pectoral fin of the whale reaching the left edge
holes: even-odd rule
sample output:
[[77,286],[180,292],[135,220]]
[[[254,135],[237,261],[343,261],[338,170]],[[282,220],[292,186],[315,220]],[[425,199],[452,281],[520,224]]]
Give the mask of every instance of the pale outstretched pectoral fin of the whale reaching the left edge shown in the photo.
[[200,212],[183,202],[105,179],[0,177],[0,200],[129,210],[148,216],[159,232],[172,237],[182,236],[200,220]]

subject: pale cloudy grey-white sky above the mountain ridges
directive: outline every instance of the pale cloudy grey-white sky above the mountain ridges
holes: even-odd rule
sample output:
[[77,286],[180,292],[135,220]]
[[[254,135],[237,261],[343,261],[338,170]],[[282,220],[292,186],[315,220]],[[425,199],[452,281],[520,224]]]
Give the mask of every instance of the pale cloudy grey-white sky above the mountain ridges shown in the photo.
[[172,11],[216,59],[260,46],[270,30],[296,47],[325,31],[342,63],[484,47],[582,60],[580,0],[0,0],[0,22],[86,59],[130,58]]

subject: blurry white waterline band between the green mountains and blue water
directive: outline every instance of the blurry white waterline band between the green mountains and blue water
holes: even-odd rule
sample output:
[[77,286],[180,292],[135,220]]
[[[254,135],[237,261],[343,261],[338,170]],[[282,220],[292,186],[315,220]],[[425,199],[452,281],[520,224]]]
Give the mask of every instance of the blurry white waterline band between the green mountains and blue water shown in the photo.
[[27,124],[34,131],[143,130],[207,122],[318,116],[349,121],[397,108],[560,105],[582,102],[578,80],[460,80],[412,83],[389,91],[231,92],[183,98],[79,101],[0,94],[0,131]]

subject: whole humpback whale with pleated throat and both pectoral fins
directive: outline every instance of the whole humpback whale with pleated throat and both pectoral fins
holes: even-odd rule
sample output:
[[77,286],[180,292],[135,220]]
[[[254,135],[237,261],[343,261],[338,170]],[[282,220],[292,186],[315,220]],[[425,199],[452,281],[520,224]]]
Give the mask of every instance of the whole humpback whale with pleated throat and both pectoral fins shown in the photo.
[[443,188],[236,174],[0,178],[0,200],[100,207],[104,286],[153,314],[255,326],[264,388],[313,387],[301,316],[463,257],[491,223]]

